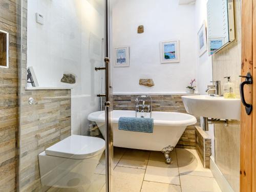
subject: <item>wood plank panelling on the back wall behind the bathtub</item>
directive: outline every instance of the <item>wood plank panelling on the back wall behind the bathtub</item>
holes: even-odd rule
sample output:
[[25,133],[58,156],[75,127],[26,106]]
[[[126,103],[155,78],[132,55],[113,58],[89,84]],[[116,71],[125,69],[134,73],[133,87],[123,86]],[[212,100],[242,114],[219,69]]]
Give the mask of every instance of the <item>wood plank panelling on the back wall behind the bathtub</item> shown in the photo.
[[[139,95],[113,95],[114,110],[135,110],[135,99]],[[186,113],[181,99],[182,95],[151,95],[152,110]],[[200,119],[197,125],[200,126]],[[187,126],[176,147],[196,149],[195,125]]]

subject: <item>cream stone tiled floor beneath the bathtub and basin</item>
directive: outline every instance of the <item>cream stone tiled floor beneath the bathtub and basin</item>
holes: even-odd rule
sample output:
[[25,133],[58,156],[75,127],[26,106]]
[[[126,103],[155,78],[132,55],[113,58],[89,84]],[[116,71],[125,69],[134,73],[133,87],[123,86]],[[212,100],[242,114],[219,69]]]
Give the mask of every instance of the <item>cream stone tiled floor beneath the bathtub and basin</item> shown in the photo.
[[[196,150],[175,148],[170,156],[172,163],[166,164],[161,152],[115,147],[114,191],[221,191],[210,170],[203,168]],[[102,174],[104,155],[95,172]],[[100,190],[103,191],[105,185]]]

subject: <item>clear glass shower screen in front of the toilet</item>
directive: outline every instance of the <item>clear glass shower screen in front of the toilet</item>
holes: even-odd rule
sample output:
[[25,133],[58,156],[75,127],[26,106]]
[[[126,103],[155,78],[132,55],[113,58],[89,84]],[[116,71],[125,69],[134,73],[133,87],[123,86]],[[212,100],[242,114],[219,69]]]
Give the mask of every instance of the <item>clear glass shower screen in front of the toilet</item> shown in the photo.
[[108,1],[20,4],[18,191],[109,191]]

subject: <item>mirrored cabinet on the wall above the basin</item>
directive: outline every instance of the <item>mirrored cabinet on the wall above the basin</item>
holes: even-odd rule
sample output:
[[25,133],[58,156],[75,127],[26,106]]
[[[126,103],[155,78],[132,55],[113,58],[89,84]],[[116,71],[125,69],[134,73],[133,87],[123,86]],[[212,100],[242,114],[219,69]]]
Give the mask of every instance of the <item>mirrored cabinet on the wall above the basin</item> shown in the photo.
[[209,55],[235,39],[233,0],[208,0],[207,31]]

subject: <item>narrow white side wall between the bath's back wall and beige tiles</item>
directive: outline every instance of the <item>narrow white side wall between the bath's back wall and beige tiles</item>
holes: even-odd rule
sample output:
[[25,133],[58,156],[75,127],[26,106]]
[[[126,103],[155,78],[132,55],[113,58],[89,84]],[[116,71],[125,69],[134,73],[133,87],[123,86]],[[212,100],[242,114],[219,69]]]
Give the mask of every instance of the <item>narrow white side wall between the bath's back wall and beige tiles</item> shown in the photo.
[[[207,26],[207,0],[197,0],[195,4],[195,15],[196,15],[196,34],[200,30],[203,22]],[[207,86],[212,81],[212,58],[208,56],[208,51],[206,51],[201,57],[197,56],[197,86],[198,92],[201,95],[206,95],[205,90]],[[209,131],[207,132],[211,137],[211,156],[215,157],[215,137],[214,137],[214,124],[209,124]]]

